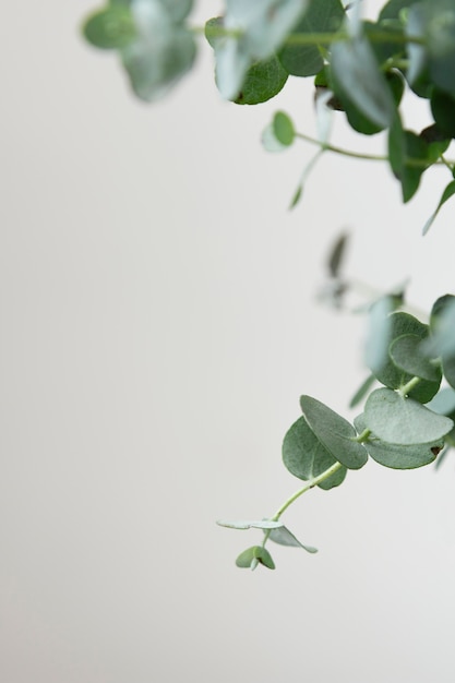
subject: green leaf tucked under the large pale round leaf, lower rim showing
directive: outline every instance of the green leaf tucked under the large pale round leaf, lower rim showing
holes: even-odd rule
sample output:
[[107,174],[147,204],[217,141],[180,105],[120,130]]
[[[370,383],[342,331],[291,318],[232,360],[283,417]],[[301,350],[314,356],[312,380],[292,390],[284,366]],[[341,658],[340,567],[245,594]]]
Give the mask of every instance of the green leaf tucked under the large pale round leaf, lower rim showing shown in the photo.
[[[363,416],[356,418],[354,423],[358,432],[362,432],[367,427]],[[369,441],[364,443],[364,447],[373,460],[384,467],[415,469],[433,463],[444,447],[444,441],[409,446],[386,443],[371,435]]]

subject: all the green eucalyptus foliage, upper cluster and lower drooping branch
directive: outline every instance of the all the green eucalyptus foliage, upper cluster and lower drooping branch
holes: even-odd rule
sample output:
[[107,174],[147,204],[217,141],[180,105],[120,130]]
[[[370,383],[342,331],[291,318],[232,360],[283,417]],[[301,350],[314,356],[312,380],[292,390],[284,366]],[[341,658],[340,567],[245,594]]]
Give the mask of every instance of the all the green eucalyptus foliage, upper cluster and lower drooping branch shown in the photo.
[[[154,101],[172,88],[194,63],[199,44],[214,52],[215,83],[221,97],[238,105],[273,98],[289,79],[312,79],[319,136],[297,130],[288,113],[277,111],[263,133],[264,146],[286,149],[299,140],[321,154],[342,153],[388,164],[403,202],[419,190],[422,173],[434,165],[446,170],[426,233],[455,194],[455,163],[445,153],[455,137],[455,3],[453,0],[390,0],[375,21],[366,21],[361,1],[225,0],[220,16],[205,26],[191,23],[192,0],[110,0],[83,24],[93,46],[117,52],[135,95]],[[432,123],[406,130],[400,116],[405,92],[427,99]],[[385,133],[382,157],[354,153],[328,142],[333,112],[359,135]],[[308,170],[308,169],[307,169]],[[294,194],[302,196],[307,173]],[[343,292],[343,240],[330,260],[331,276]],[[221,526],[259,529],[261,542],[237,559],[240,567],[274,568],[268,541],[301,543],[282,516],[314,487],[340,486],[349,469],[369,458],[395,469],[438,462],[455,446],[455,296],[443,293],[426,324],[407,313],[403,296],[385,296],[369,310],[366,364],[370,374],[351,399],[359,415],[349,423],[325,404],[301,396],[300,417],[287,431],[283,462],[303,483],[266,518]]]

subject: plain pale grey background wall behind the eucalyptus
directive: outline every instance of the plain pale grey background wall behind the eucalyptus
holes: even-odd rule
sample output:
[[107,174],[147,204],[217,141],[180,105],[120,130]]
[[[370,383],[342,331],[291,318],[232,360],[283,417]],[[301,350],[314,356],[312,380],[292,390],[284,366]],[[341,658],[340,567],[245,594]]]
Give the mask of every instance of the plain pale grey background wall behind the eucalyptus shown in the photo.
[[142,105],[80,39],[93,7],[3,8],[0,681],[452,683],[452,463],[312,492],[287,519],[320,553],[277,547],[274,573],[215,525],[299,486],[300,394],[349,415],[363,323],[315,301],[340,229],[355,277],[410,276],[423,310],[454,290],[451,209],[420,237],[443,171],[403,207],[385,166],[331,156],[288,213],[313,149],[259,139],[277,108],[314,132],[311,85],[221,103],[202,46]]

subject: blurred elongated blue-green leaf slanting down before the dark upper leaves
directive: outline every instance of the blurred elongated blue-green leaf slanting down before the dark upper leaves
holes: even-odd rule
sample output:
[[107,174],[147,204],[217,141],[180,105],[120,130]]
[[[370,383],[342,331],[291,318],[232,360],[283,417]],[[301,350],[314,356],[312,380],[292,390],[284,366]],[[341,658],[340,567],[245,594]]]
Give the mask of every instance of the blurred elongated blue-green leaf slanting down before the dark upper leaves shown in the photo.
[[387,128],[393,121],[395,106],[367,38],[359,36],[334,43],[331,67],[339,93],[372,123]]

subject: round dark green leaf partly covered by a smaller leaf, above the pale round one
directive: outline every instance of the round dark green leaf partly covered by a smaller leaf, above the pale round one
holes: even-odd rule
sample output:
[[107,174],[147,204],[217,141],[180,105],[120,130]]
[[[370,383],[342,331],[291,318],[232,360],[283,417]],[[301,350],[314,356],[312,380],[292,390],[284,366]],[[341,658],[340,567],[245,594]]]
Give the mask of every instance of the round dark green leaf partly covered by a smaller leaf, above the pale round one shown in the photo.
[[[429,326],[424,325],[417,317],[410,315],[409,313],[403,313],[402,311],[397,311],[391,313],[390,315],[390,327],[387,333],[387,339],[385,339],[385,346],[388,349],[394,339],[406,335],[414,334],[417,335],[420,339],[427,339],[429,333]],[[427,352],[428,351],[427,349]],[[432,352],[432,351],[431,351]],[[405,372],[402,368],[397,368],[397,366],[393,362],[392,358],[388,356],[384,358],[382,362],[371,362],[371,358],[369,359],[370,370],[373,372],[375,378],[385,386],[390,388],[399,388],[409,380],[412,379],[412,374]],[[429,382],[428,380],[422,380],[416,387],[411,390],[409,396],[419,400],[420,403],[427,403],[431,400],[431,398],[438,393],[439,390],[438,382]],[[428,440],[427,440],[428,441]]]

